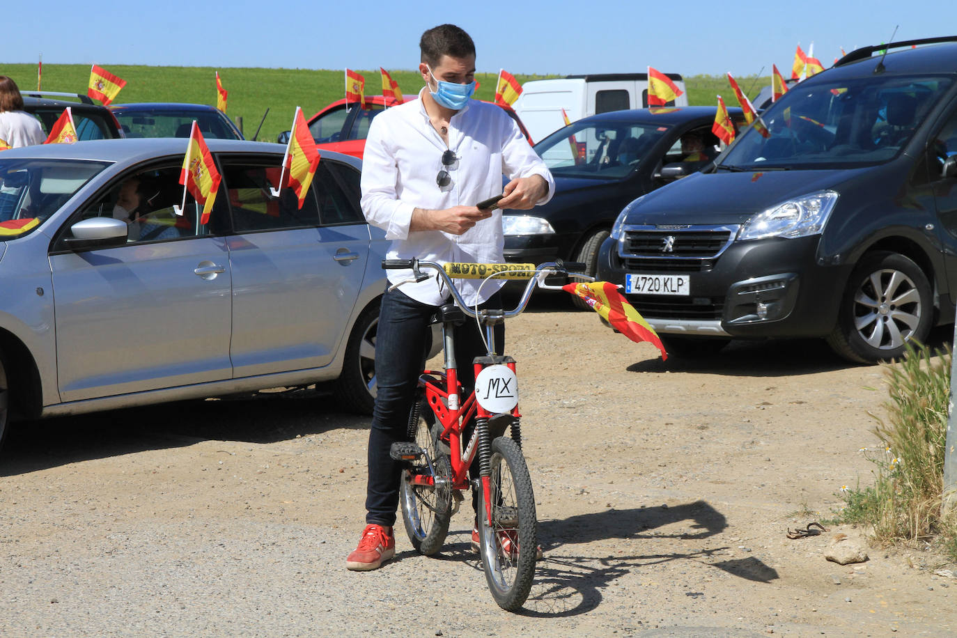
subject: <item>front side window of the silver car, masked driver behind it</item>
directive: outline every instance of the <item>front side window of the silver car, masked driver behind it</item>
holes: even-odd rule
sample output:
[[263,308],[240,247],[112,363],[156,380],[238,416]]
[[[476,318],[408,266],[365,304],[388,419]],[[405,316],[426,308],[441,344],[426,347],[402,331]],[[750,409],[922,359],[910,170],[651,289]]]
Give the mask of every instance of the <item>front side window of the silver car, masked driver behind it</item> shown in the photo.
[[[183,209],[183,187],[179,184],[182,166],[167,164],[127,173],[83,206],[70,223],[90,217],[113,217],[127,225],[127,243],[169,241],[212,234],[222,226],[223,213],[210,215],[210,223],[199,224],[202,207],[191,196]],[[218,199],[218,198],[217,198]],[[183,214],[178,214],[177,209]],[[212,220],[217,223],[213,224]]]

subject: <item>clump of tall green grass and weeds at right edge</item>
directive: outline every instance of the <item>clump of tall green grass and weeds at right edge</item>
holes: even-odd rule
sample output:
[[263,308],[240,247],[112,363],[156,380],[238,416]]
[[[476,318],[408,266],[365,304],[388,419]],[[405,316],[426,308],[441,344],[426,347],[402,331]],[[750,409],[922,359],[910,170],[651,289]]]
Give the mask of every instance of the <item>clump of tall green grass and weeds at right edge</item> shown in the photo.
[[957,561],[957,520],[943,507],[947,404],[952,353],[908,345],[899,363],[882,364],[889,397],[874,416],[880,445],[861,451],[876,466],[874,485],[846,486],[844,522],[870,525],[882,545],[936,543]]

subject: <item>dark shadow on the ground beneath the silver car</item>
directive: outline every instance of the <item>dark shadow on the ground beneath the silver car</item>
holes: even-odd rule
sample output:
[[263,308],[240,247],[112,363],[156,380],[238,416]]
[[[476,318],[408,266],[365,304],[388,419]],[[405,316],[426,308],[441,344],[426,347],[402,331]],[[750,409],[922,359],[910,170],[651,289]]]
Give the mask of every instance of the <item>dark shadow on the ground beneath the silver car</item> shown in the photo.
[[330,429],[365,429],[327,388],[131,407],[11,424],[0,476],[199,441],[275,443]]

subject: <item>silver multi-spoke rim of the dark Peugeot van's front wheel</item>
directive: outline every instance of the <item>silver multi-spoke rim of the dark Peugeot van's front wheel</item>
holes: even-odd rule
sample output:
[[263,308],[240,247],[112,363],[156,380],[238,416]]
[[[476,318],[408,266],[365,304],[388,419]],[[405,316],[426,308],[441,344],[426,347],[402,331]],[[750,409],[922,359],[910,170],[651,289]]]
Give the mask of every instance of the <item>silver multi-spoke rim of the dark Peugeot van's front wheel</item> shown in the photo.
[[901,271],[871,273],[854,297],[854,325],[868,345],[880,350],[901,347],[917,329],[924,308],[914,281]]

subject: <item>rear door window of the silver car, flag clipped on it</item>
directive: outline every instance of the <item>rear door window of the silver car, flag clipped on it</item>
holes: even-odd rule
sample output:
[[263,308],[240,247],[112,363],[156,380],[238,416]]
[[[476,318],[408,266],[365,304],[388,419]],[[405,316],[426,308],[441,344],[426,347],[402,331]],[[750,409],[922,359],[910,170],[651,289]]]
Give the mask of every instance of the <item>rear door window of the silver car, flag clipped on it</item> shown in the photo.
[[292,188],[283,187],[276,194],[276,187],[285,181],[282,173],[278,156],[275,161],[224,161],[223,181],[234,231],[278,231],[319,225],[319,208],[312,188],[301,208]]

